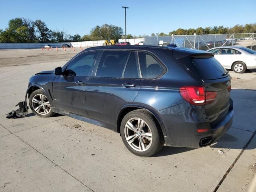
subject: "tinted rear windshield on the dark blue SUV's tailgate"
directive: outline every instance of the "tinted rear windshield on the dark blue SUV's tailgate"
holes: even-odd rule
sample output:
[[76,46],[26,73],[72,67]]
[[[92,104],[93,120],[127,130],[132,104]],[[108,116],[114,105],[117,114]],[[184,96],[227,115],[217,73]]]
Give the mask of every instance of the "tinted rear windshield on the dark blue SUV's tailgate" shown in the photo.
[[202,79],[218,79],[223,78],[222,76],[226,70],[221,66],[221,64],[214,58],[191,58],[192,64],[195,66],[197,72]]

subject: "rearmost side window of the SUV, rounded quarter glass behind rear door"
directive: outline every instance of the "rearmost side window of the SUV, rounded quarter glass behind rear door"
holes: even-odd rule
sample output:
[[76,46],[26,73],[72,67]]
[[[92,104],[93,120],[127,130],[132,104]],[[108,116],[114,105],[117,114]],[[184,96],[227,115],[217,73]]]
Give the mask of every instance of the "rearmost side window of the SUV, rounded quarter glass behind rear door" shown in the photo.
[[139,52],[139,61],[142,78],[156,78],[164,72],[162,65],[148,53]]

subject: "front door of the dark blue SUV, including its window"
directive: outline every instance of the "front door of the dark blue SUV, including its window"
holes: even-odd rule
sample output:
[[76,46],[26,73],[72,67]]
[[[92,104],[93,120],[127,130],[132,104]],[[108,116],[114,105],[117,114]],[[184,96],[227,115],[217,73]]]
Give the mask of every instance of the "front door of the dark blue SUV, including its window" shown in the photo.
[[98,57],[98,51],[76,56],[53,81],[54,106],[64,113],[87,116],[85,106],[86,83]]

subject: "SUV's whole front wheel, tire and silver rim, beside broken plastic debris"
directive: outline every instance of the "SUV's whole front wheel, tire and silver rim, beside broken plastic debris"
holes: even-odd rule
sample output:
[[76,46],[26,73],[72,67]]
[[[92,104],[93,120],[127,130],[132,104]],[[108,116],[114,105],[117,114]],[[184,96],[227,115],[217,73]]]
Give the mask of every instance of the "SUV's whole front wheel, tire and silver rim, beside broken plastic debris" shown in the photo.
[[42,89],[32,92],[28,102],[33,113],[40,117],[50,117],[55,114],[52,112],[49,100]]

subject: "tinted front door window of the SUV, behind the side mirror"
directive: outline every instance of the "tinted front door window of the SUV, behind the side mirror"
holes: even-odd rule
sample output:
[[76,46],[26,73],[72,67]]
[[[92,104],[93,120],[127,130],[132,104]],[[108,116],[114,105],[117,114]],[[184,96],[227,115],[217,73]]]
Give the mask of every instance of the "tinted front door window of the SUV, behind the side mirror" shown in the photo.
[[64,71],[64,76],[89,76],[89,72],[95,64],[98,51],[86,52],[77,56]]

